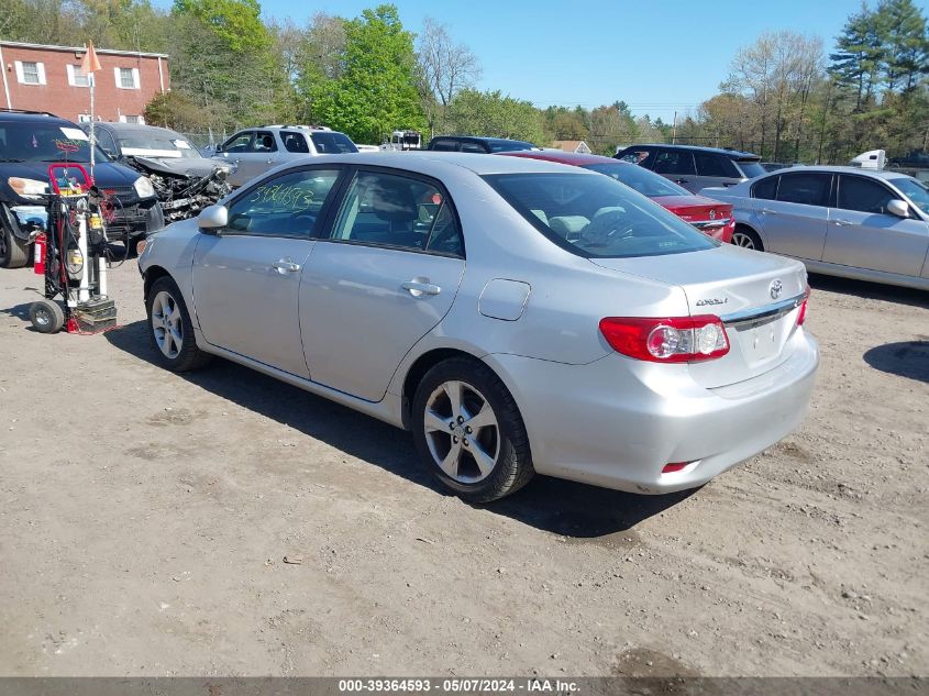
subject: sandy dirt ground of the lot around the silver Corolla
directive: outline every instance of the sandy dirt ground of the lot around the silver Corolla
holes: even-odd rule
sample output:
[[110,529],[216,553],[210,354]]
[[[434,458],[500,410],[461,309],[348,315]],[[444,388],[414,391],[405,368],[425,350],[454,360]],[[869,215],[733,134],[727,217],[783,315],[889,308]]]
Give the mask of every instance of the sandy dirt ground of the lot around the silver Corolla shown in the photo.
[[0,675],[929,674],[929,294],[814,278],[805,426],[699,490],[482,508],[402,431],[158,368],[111,286],[122,328],[49,336],[0,270]]

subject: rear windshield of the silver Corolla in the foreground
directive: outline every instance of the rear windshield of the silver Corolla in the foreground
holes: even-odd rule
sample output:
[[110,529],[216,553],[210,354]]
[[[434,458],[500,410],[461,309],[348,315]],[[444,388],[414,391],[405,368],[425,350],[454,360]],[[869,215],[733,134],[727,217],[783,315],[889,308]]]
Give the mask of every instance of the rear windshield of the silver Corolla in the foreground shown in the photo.
[[677,216],[606,176],[532,173],[484,178],[537,230],[578,256],[660,256],[718,246]]

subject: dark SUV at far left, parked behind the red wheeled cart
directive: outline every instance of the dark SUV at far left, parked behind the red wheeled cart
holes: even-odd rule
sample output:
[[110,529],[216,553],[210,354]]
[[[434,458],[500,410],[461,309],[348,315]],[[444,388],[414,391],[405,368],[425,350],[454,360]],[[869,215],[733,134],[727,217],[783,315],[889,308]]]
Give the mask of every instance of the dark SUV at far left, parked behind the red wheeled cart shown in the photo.
[[[104,192],[107,239],[136,240],[165,227],[152,183],[117,164],[99,147],[93,179]],[[90,142],[77,124],[51,113],[0,109],[0,267],[31,262],[33,235],[47,218],[48,166],[74,163],[90,169]]]

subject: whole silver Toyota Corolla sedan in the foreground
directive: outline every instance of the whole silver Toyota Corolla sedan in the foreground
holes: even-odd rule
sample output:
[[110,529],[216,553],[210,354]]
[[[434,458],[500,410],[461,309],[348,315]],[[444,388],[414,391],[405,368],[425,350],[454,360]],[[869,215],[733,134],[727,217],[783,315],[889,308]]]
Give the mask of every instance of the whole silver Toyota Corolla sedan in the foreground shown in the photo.
[[472,501],[535,472],[699,486],[799,424],[819,363],[803,264],[534,159],[308,158],[139,263],[165,367],[220,355],[407,428]]

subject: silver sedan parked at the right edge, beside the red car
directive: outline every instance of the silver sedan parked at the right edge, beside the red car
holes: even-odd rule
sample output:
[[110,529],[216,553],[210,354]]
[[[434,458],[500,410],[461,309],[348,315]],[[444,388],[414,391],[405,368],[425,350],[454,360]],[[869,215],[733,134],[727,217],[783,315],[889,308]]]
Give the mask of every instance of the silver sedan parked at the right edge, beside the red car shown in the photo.
[[929,188],[910,176],[793,167],[700,194],[733,205],[733,244],[815,273],[929,290]]

